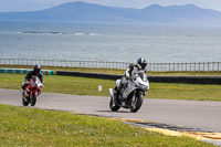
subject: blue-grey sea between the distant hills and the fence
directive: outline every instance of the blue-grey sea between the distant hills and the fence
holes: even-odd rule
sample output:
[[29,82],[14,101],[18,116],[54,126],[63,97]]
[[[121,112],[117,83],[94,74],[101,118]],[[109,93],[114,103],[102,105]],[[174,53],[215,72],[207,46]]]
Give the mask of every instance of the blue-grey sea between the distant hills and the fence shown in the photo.
[[0,21],[0,59],[221,61],[221,27]]

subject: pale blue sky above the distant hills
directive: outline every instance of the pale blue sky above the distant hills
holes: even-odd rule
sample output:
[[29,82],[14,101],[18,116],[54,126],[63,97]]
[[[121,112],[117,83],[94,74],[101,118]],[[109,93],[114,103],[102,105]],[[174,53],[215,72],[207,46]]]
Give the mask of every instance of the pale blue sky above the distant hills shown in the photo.
[[64,2],[74,1],[124,8],[145,8],[154,3],[161,6],[183,6],[192,3],[201,8],[221,11],[221,0],[0,0],[0,12],[43,10]]

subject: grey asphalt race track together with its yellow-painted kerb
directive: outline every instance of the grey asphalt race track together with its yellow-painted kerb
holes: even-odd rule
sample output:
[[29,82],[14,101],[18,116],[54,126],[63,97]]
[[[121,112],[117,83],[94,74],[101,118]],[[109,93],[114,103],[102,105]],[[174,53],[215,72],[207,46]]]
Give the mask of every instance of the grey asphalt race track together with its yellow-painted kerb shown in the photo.
[[[0,104],[22,106],[18,90],[0,88]],[[34,107],[96,115],[170,136],[185,135],[221,146],[221,102],[146,98],[137,113],[109,109],[109,97],[42,93]]]

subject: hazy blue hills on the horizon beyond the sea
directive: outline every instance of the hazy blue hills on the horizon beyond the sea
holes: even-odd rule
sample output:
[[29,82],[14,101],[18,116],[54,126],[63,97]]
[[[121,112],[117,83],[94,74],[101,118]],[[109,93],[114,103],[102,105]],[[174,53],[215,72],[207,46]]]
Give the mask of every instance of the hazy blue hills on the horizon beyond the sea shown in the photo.
[[115,8],[86,2],[69,2],[51,9],[31,12],[1,12],[1,21],[59,21],[59,22],[133,22],[221,24],[221,12],[193,4],[144,9]]

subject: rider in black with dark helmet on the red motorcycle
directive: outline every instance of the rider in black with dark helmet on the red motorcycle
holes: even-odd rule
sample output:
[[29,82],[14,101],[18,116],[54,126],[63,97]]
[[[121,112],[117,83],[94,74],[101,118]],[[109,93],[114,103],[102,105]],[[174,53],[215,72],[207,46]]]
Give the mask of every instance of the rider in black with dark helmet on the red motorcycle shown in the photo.
[[24,77],[24,83],[22,84],[22,94],[24,93],[25,87],[28,86],[28,82],[30,82],[32,76],[38,76],[42,84],[44,84],[43,74],[41,73],[41,65],[36,64],[33,66],[33,71],[30,71]]

